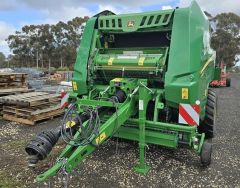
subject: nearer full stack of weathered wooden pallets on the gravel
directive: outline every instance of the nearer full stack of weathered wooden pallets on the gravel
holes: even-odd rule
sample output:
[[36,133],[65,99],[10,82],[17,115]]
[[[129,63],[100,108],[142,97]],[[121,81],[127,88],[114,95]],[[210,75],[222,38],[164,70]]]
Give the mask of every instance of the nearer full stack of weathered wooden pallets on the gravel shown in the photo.
[[3,119],[34,125],[36,122],[61,115],[59,94],[30,92],[0,97]]

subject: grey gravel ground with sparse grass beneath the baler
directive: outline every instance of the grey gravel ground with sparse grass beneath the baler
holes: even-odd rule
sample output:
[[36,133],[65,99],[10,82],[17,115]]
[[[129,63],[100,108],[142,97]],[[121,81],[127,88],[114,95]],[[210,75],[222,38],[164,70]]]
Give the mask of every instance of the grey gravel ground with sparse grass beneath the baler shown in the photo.
[[[143,176],[133,171],[138,161],[136,143],[109,140],[70,174],[69,187],[240,187],[240,75],[232,75],[230,88],[216,88],[218,118],[213,139],[212,164],[200,165],[189,150],[150,146],[147,162],[151,171]],[[47,169],[63,148],[60,144],[45,162],[27,168],[26,143],[40,130],[55,127],[61,118],[23,126],[0,120],[0,187],[63,187],[61,174],[46,184],[34,177]]]

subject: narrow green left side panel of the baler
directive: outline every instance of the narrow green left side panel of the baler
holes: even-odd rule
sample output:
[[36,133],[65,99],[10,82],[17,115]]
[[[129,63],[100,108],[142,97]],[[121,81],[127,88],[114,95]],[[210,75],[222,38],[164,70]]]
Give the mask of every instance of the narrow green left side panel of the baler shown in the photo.
[[77,53],[77,59],[74,65],[74,74],[73,74],[73,86],[76,83],[76,87],[73,87],[75,92],[78,94],[85,94],[88,91],[87,86],[87,65],[91,50],[92,38],[94,33],[94,26],[97,18],[91,18],[87,22],[80,47]]

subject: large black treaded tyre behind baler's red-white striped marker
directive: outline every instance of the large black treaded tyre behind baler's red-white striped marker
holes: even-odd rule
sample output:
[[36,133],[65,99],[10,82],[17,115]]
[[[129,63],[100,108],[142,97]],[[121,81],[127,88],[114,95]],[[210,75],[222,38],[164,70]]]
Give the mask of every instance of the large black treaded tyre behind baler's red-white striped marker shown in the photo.
[[198,126],[199,133],[205,133],[206,138],[213,138],[214,124],[217,116],[217,96],[213,90],[208,90],[205,118]]

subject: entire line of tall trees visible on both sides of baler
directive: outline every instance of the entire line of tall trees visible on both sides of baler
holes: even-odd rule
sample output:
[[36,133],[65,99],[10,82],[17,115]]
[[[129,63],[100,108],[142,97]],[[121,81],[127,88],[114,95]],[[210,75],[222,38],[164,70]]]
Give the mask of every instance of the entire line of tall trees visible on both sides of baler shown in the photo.
[[[217,62],[232,67],[240,54],[240,16],[221,13],[215,17],[205,12],[212,25],[211,46],[217,52]],[[76,17],[55,25],[26,25],[7,38],[13,55],[0,53],[0,66],[15,67],[73,67],[84,23],[88,17]],[[2,61],[2,62],[1,62]],[[5,64],[4,64],[5,62]]]

